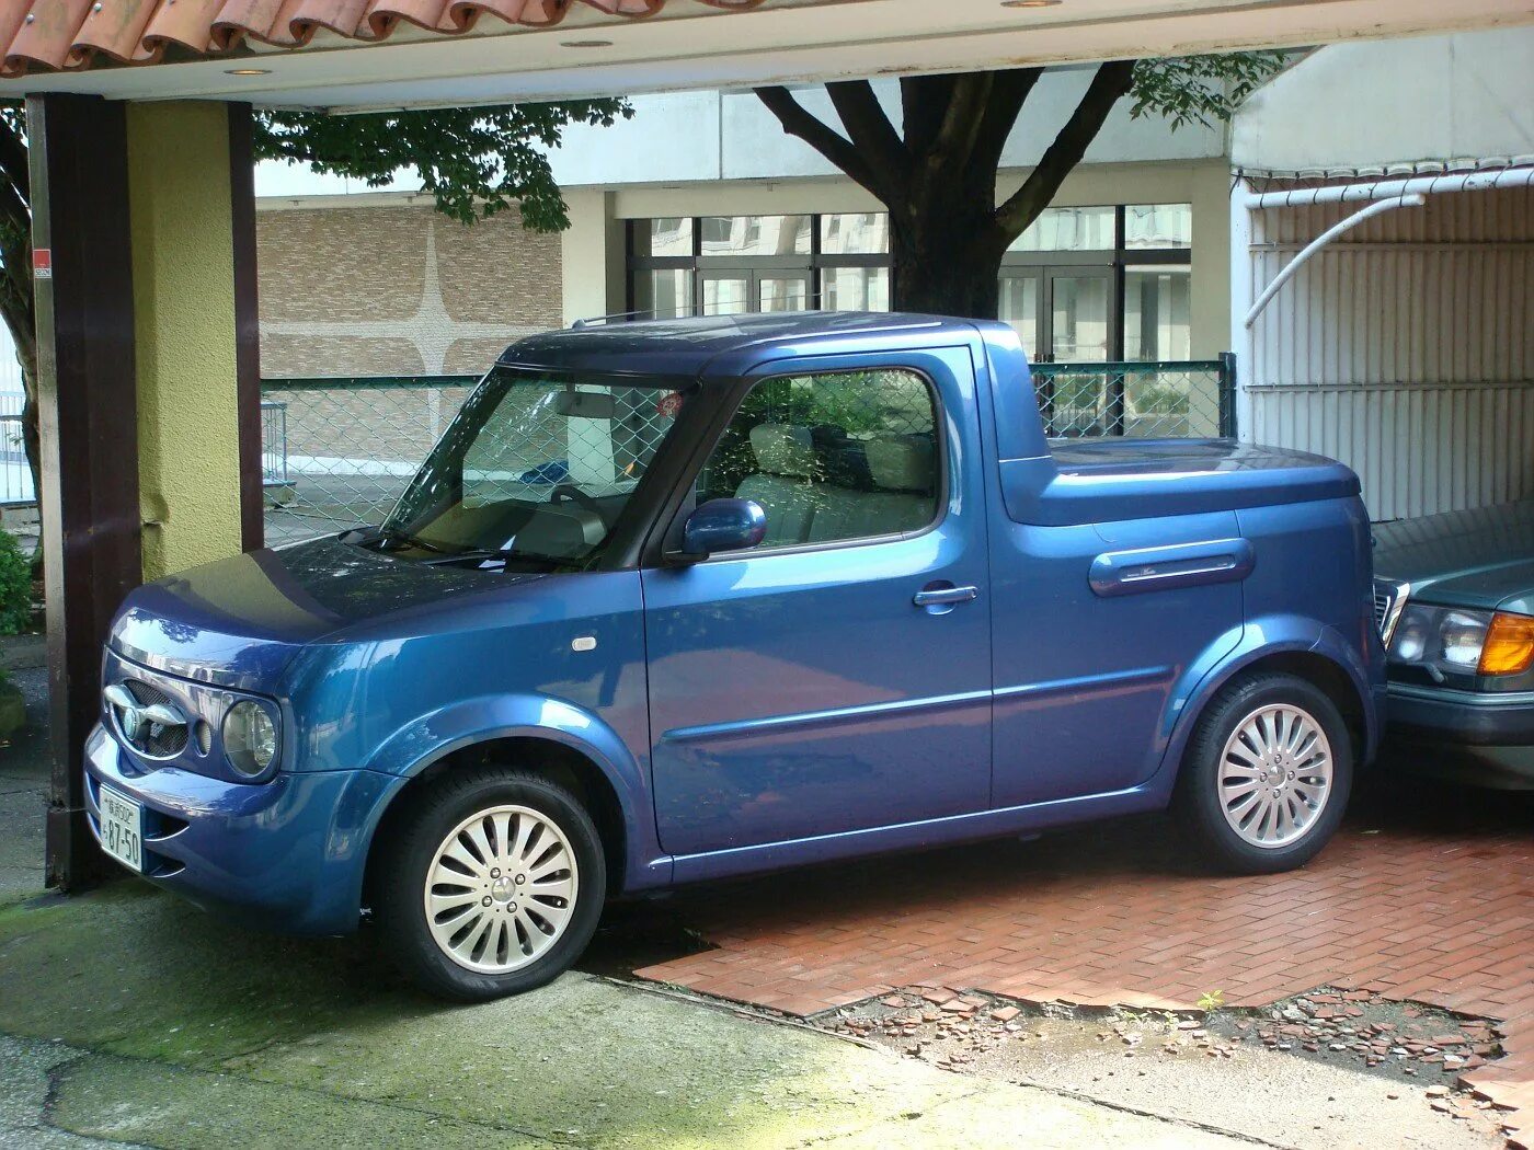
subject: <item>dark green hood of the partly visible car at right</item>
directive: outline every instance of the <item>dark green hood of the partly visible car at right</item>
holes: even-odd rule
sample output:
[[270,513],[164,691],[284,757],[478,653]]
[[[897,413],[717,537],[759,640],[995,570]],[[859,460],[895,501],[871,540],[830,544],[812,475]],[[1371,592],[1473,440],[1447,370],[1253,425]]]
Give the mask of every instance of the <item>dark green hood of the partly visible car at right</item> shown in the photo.
[[1534,501],[1382,523],[1374,573],[1413,600],[1534,615]]

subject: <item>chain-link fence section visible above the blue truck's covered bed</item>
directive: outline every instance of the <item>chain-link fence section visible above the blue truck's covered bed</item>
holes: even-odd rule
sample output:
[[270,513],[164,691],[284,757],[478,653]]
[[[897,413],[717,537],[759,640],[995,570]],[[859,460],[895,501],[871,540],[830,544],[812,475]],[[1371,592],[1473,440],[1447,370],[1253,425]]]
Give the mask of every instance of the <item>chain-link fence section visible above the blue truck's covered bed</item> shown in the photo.
[[1051,437],[1235,435],[1235,356],[1170,363],[1035,363]]

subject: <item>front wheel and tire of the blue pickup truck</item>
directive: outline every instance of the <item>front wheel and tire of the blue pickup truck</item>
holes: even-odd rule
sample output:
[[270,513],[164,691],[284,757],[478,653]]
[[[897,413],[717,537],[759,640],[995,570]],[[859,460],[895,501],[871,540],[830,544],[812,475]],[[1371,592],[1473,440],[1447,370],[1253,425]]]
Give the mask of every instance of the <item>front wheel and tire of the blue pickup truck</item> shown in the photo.
[[543,986],[597,929],[607,886],[597,828],[538,774],[449,774],[384,849],[379,925],[405,974],[443,998]]

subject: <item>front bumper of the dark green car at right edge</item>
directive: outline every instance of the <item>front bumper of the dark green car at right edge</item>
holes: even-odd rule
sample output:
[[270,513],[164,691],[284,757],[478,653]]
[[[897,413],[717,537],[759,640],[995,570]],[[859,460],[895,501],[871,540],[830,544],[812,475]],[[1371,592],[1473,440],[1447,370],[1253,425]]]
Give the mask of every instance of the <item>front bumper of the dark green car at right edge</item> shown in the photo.
[[1534,695],[1391,684],[1384,751],[1443,777],[1534,790]]

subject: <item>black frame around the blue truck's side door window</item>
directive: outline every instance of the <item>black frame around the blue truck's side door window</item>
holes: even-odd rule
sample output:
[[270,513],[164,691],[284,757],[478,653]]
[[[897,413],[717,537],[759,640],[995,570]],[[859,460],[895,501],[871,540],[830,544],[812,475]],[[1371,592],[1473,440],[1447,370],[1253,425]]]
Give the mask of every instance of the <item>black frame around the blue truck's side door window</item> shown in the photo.
[[[778,365],[769,365],[776,368]],[[709,555],[704,560],[686,560],[678,561],[669,558],[681,552],[681,534],[687,523],[687,518],[696,511],[696,495],[698,495],[698,477],[703,474],[703,468],[713,457],[719,443],[724,439],[724,432],[729,429],[730,423],[739,414],[746,403],[746,399],[758,386],[764,383],[772,383],[779,379],[802,379],[805,376],[824,377],[824,376],[859,376],[870,371],[904,371],[927,388],[927,397],[933,405],[933,446],[934,446],[934,462],[937,469],[937,483],[933,489],[933,498],[936,501],[936,512],[933,518],[920,531],[908,532],[884,532],[881,535],[854,535],[844,540],[819,540],[815,543],[795,543],[785,547],[770,547],[761,550],[756,547],[746,547],[741,550],[726,550],[718,555]],[[704,385],[704,393],[707,393],[709,385]],[[698,439],[698,445],[693,448],[689,463],[680,474],[680,481],[672,491],[672,497],[666,501],[657,515],[657,529],[650,534],[644,544],[644,567],[667,567],[667,569],[684,569],[695,566],[698,563],[726,563],[730,560],[742,558],[769,558],[778,555],[807,555],[822,550],[844,550],[847,547],[865,547],[881,543],[905,543],[910,540],[919,540],[923,535],[930,535],[946,523],[950,515],[951,494],[953,494],[953,477],[951,477],[951,460],[953,454],[948,445],[948,429],[950,429],[950,414],[943,405],[942,388],[931,377],[930,373],[911,363],[893,362],[881,363],[877,366],[845,366],[833,370],[810,370],[810,371],[781,371],[773,370],[761,376],[744,376],[733,383],[723,385],[726,391],[724,400],[718,405],[715,417],[710,420],[707,428],[707,435]],[[703,403],[696,406],[706,406]]]

